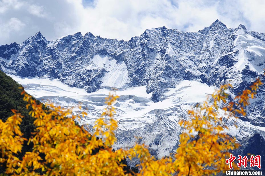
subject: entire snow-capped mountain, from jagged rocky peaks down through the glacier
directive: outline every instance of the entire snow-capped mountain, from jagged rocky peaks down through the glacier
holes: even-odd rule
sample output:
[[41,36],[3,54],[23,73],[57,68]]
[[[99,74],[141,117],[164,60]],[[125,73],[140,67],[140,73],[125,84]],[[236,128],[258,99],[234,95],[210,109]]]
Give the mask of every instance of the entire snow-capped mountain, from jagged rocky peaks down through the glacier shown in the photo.
[[[0,66],[44,102],[82,102],[89,115],[80,123],[90,129],[109,90],[119,89],[115,147],[143,137],[161,157],[178,146],[178,120],[187,118],[190,105],[228,82],[233,97],[262,74],[265,34],[243,25],[228,29],[219,20],[199,32],[152,28],[129,41],[91,33],[48,41],[38,32],[22,44],[0,46]],[[257,93],[238,129],[231,121],[229,132],[239,140],[255,133],[265,137],[265,89]]]

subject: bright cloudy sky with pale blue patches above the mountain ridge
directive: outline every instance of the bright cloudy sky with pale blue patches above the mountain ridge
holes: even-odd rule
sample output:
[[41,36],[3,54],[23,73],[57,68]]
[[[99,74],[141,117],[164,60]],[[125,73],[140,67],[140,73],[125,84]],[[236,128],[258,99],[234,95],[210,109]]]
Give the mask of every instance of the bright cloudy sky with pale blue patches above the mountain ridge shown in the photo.
[[216,19],[265,33],[264,0],[0,0],[0,45],[38,31],[47,40],[81,32],[130,40],[165,26],[197,32]]

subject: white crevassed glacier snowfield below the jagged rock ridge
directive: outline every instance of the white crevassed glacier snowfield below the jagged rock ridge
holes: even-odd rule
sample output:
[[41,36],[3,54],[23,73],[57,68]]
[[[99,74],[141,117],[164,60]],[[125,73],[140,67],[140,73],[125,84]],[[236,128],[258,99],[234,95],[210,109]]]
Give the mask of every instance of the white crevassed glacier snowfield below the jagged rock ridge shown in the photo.
[[[42,102],[53,102],[72,108],[77,114],[86,111],[88,115],[78,123],[89,131],[93,131],[93,124],[106,107],[105,98],[111,91],[103,88],[87,93],[84,89],[62,84],[58,79],[9,76]],[[215,87],[189,80],[183,80],[175,86],[166,90],[165,100],[156,103],[152,101],[151,93],[146,93],[145,86],[118,90],[116,93],[120,98],[114,105],[117,112],[115,119],[119,122],[116,132],[118,141],[113,147],[133,146],[136,142],[135,137],[142,137],[141,140],[150,146],[152,154],[158,157],[169,155],[176,150],[182,132],[178,121],[188,118],[187,110],[191,109],[192,105],[205,101],[206,96],[213,93]],[[78,105],[81,105],[81,110]],[[235,128],[232,119],[228,124],[229,133],[238,140],[253,136],[255,133],[265,138],[265,127],[251,125],[240,119],[237,120],[239,128]]]

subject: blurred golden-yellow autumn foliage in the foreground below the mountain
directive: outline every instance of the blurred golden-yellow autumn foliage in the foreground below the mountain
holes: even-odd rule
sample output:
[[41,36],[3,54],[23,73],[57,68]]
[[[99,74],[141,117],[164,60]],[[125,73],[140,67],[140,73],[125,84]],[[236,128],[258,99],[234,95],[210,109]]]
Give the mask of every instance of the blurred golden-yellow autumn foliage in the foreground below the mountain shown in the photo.
[[[180,145],[173,157],[157,160],[144,144],[135,144],[130,149],[113,151],[111,146],[116,141],[114,131],[117,121],[113,118],[113,103],[119,96],[109,94],[106,99],[107,108],[95,122],[94,134],[75,125],[69,109],[49,104],[50,110],[44,110],[31,96],[24,94],[28,102],[26,108],[32,107],[30,115],[35,119],[36,130],[28,140],[32,143],[32,152],[26,152],[22,161],[16,157],[21,152],[23,142],[19,125],[22,116],[16,110],[14,115],[4,123],[0,120],[0,163],[5,164],[9,175],[131,175],[123,171],[124,158],[139,158],[137,165],[140,173],[136,175],[212,175],[229,169],[225,163],[229,158],[229,150],[239,147],[235,138],[224,132],[227,118],[236,113],[245,115],[244,107],[249,105],[249,98],[254,98],[256,90],[262,84],[260,79],[235,98],[235,102],[227,102],[226,90],[231,84],[220,87],[201,106],[188,111],[190,120],[180,121],[186,129],[180,135]],[[210,103],[211,102],[211,103]],[[226,106],[220,109],[219,104]],[[224,113],[225,112],[225,115]],[[82,115],[87,115],[82,113]],[[100,139],[98,139],[100,138]],[[98,150],[93,154],[93,150]],[[238,168],[237,165],[233,165]]]

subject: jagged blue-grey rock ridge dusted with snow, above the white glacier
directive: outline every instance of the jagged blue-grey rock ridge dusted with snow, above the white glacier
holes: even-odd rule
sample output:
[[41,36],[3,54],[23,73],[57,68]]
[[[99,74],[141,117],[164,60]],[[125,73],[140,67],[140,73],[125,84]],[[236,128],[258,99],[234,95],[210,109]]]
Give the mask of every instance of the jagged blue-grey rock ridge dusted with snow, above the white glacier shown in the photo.
[[[265,68],[264,41],[265,34],[243,25],[228,29],[219,20],[199,32],[152,28],[129,41],[76,33],[50,42],[38,32],[20,45],[0,46],[0,66],[21,77],[58,78],[87,92],[146,86],[158,102],[181,80],[230,82],[235,92],[243,90]],[[264,89],[258,92],[243,120],[265,127],[264,95]]]

